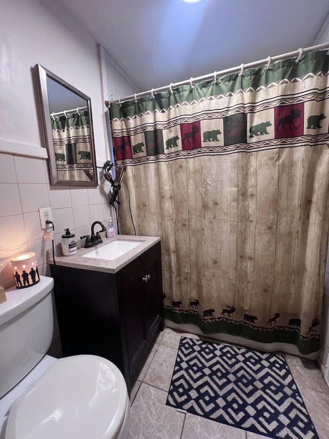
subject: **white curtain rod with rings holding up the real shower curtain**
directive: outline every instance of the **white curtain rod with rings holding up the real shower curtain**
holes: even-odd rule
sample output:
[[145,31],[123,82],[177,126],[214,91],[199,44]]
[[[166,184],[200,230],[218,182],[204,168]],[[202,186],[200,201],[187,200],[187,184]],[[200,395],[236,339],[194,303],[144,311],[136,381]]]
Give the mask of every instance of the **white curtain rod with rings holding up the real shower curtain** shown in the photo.
[[110,102],[117,102],[120,104],[123,101],[131,100],[131,99],[135,99],[135,101],[136,101],[137,98],[140,98],[142,96],[146,96],[148,94],[151,94],[154,97],[154,93],[164,92],[167,90],[170,90],[172,92],[173,87],[179,87],[180,85],[191,84],[191,87],[192,87],[193,83],[195,83],[195,82],[200,82],[200,81],[204,81],[205,79],[211,79],[211,78],[214,78],[214,80],[215,80],[217,76],[227,75],[228,73],[235,73],[235,72],[240,71],[242,74],[243,69],[245,69],[245,68],[259,67],[263,64],[265,64],[266,68],[268,68],[268,66],[270,65],[271,62],[281,61],[281,60],[286,59],[286,58],[297,57],[297,60],[299,61],[300,57],[303,54],[308,54],[309,52],[314,52],[316,50],[322,50],[322,49],[329,49],[329,42],[318,44],[316,46],[306,47],[304,49],[300,48],[300,49],[295,50],[293,52],[287,52],[286,54],[276,55],[275,57],[267,57],[266,59],[250,62],[248,64],[241,64],[241,65],[236,66],[236,67],[231,67],[231,68],[227,68],[226,70],[221,70],[220,72],[209,73],[208,75],[198,76],[197,78],[190,78],[190,79],[186,79],[185,81],[176,82],[175,84],[171,83],[170,85],[165,85],[163,87],[159,87],[158,89],[148,90],[147,92],[135,93],[134,95],[126,96],[124,98],[119,98],[119,99],[112,100],[112,101],[106,100],[105,105],[106,105],[106,107],[109,107]]

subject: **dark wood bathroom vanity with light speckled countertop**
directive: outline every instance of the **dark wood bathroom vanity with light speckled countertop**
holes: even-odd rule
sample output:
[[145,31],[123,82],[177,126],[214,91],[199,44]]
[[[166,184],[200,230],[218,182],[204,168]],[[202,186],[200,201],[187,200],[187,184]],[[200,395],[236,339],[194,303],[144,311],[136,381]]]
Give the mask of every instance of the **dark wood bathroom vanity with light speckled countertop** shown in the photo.
[[97,248],[106,250],[115,240],[139,243],[113,260],[102,259],[103,253],[89,257],[95,247],[69,257],[57,249],[56,266],[50,251],[47,257],[63,355],[107,358],[123,373],[130,393],[145,352],[163,329],[160,239],[119,235],[104,238]]

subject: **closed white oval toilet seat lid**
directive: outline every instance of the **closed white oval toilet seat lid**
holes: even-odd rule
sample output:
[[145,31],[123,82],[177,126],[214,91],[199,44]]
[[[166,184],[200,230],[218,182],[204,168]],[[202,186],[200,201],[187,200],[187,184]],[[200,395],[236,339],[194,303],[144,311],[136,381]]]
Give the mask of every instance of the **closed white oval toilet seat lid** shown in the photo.
[[112,438],[127,399],[124,378],[111,361],[93,355],[61,358],[13,403],[5,438]]

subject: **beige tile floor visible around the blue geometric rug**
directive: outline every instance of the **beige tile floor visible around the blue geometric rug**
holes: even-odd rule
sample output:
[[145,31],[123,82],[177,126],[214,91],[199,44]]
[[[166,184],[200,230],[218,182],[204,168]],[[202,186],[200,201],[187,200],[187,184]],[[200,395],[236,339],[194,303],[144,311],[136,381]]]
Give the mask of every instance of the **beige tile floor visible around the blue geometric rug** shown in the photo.
[[[210,340],[166,328],[151,347],[131,392],[129,439],[265,439],[166,406],[181,336]],[[212,340],[217,342],[217,340]],[[320,439],[329,438],[329,387],[314,361],[284,354]]]

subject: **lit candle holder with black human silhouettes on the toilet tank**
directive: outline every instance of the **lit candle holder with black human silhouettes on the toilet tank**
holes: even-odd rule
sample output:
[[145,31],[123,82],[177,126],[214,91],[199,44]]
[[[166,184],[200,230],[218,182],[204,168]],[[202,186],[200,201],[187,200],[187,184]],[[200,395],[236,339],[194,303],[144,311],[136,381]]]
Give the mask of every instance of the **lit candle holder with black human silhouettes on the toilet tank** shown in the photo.
[[28,288],[40,282],[35,253],[28,252],[10,258],[16,288]]

